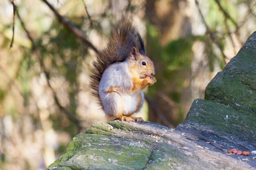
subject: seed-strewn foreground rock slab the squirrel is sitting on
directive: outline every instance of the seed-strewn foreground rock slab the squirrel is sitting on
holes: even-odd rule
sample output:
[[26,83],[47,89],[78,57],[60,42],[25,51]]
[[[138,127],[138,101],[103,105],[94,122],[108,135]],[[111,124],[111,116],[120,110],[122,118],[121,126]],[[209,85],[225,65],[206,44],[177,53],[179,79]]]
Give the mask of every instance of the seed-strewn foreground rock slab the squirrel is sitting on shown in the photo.
[[[120,127],[120,124],[125,130],[115,128]],[[63,155],[47,170],[252,168],[245,162],[236,163],[236,158],[227,157],[225,153],[220,154],[218,148],[199,140],[197,136],[193,138],[198,140],[191,141],[191,134],[183,134],[152,122],[127,123],[117,120],[109,124],[99,122],[91,128],[85,134],[76,135]],[[101,129],[110,132],[106,134]],[[202,148],[195,147],[198,145]]]

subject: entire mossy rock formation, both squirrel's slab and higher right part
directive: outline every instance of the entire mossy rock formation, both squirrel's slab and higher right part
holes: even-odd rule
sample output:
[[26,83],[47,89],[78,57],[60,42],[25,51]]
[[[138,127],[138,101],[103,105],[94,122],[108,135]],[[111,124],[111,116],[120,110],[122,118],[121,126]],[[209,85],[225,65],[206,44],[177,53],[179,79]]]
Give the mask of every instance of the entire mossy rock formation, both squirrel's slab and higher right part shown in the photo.
[[47,170],[256,170],[253,155],[226,154],[256,150],[255,139],[256,32],[175,130],[151,122],[99,122],[74,137]]

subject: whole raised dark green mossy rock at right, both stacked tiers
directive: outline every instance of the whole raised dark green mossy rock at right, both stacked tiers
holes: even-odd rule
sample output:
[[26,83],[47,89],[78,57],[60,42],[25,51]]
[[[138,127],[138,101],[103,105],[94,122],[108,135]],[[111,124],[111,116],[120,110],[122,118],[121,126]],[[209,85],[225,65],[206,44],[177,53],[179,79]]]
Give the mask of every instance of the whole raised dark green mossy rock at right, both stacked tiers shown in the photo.
[[256,150],[256,32],[193,102],[178,128],[196,130],[222,148]]

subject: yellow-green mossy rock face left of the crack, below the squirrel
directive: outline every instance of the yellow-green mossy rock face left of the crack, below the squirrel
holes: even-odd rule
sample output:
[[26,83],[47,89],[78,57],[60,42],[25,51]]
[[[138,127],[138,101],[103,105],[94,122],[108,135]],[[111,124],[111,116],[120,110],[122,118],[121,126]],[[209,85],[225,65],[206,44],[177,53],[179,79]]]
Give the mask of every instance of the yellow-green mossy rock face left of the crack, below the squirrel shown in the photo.
[[[150,156],[150,146],[143,142],[91,134],[81,137],[79,140],[74,138],[67,146],[65,154],[49,168],[85,170],[104,167],[115,170],[128,166],[130,169],[142,169]],[[79,145],[74,146],[74,143]]]

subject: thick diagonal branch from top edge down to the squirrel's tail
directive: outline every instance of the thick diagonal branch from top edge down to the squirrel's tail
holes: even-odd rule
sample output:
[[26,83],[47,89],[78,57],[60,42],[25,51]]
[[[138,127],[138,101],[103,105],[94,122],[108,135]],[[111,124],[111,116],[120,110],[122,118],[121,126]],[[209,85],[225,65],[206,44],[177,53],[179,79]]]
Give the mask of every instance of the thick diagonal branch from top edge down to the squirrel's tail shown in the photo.
[[72,31],[78,38],[82,40],[84,44],[90,46],[97,54],[99,54],[99,50],[94,45],[92,45],[92,43],[89,40],[87,40],[85,35],[83,35],[83,33],[76,26],[74,26],[71,22],[65,20],[65,18],[61,16],[58,13],[58,11],[56,11],[56,9],[54,9],[54,7],[51,4],[49,4],[47,0],[42,1],[45,2],[45,4],[47,4],[47,6],[54,12],[56,17],[61,21],[62,24],[64,24],[67,27],[67,29]]

